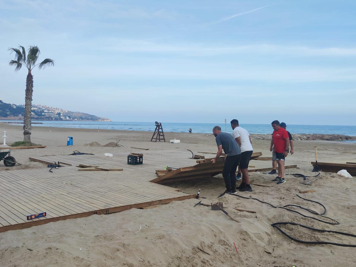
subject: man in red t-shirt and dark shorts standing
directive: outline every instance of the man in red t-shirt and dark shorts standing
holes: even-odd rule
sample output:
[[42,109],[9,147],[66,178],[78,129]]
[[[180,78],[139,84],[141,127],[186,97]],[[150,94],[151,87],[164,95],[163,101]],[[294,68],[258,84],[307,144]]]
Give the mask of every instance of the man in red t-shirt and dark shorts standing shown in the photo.
[[272,121],[273,127],[273,135],[271,140],[271,148],[270,151],[273,150],[276,153],[277,163],[278,163],[278,176],[272,181],[278,181],[277,184],[283,184],[286,182],[284,179],[284,159],[288,155],[288,147],[289,147],[289,135],[286,130],[281,128],[279,121]]

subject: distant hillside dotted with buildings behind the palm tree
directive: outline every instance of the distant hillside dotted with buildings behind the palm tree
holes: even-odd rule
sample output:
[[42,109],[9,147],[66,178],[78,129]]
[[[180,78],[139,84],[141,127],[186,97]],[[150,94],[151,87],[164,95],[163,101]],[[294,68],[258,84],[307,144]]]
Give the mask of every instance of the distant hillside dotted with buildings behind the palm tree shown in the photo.
[[[45,105],[32,105],[32,120],[84,120],[84,121],[111,121],[108,118],[98,117],[79,111],[63,110]],[[7,104],[0,100],[0,117],[11,117],[11,120],[23,119],[24,105]]]

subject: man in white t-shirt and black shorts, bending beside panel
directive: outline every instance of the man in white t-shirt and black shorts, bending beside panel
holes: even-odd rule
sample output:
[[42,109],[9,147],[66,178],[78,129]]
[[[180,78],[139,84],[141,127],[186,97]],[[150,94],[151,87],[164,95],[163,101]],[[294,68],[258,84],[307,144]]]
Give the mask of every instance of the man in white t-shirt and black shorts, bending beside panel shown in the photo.
[[248,163],[250,162],[250,158],[253,152],[252,141],[250,137],[250,133],[242,127],[239,126],[239,121],[234,119],[231,122],[232,128],[232,136],[235,138],[237,144],[241,148],[241,160],[239,165],[239,174],[236,176],[236,180],[241,179],[242,172],[242,182],[239,187],[239,191],[244,192],[252,192],[252,188],[250,185],[250,180],[248,179]]

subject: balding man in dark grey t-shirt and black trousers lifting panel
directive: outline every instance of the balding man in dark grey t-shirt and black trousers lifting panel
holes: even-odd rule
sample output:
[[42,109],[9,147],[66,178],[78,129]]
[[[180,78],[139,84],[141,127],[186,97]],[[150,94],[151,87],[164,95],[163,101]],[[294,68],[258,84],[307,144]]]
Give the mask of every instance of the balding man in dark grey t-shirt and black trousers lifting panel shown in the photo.
[[211,162],[216,162],[220,157],[222,150],[224,150],[224,153],[226,154],[223,169],[226,190],[219,195],[219,197],[221,197],[226,193],[236,193],[236,169],[240,163],[241,149],[232,135],[226,132],[221,132],[220,126],[215,126],[213,128],[213,135],[215,136],[216,145],[218,146],[218,153],[216,153],[215,158],[211,159]]

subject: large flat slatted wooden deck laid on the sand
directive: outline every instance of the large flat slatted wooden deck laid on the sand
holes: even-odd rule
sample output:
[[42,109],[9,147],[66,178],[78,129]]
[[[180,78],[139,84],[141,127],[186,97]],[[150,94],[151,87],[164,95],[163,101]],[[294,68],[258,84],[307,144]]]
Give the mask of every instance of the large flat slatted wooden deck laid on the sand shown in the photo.
[[[42,162],[72,164],[53,169],[53,173],[47,167],[0,171],[0,232],[195,197],[149,182],[156,177],[157,168],[194,162],[188,158],[190,152],[145,152],[143,164],[136,166],[127,165],[127,154],[123,152],[112,158],[96,155],[37,158]],[[79,164],[116,166],[123,171],[78,172]],[[41,212],[47,212],[47,216],[27,220],[27,215]]]

